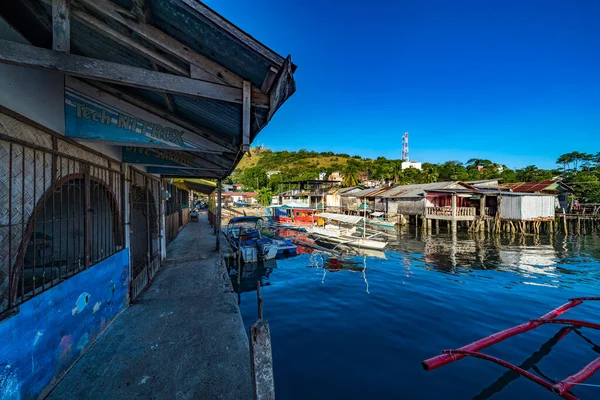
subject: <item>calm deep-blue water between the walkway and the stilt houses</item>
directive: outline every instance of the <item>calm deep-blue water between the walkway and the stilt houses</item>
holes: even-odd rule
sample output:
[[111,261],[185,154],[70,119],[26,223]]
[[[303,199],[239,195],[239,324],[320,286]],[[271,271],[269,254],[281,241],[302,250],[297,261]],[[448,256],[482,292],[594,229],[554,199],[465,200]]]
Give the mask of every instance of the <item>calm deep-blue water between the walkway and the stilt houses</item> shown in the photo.
[[[247,269],[240,307],[249,327],[257,312],[251,290],[261,279],[280,399],[554,399],[488,361],[467,358],[432,372],[421,361],[570,297],[599,295],[599,260],[600,239],[592,236],[552,242],[405,233],[384,255],[303,254]],[[588,302],[564,317],[600,320],[599,313],[600,304]],[[484,352],[561,380],[600,356],[593,344],[600,332],[582,329],[583,336],[571,332],[554,343],[560,330],[542,326]],[[600,384],[600,374],[587,383]],[[600,387],[573,392],[600,398]]]

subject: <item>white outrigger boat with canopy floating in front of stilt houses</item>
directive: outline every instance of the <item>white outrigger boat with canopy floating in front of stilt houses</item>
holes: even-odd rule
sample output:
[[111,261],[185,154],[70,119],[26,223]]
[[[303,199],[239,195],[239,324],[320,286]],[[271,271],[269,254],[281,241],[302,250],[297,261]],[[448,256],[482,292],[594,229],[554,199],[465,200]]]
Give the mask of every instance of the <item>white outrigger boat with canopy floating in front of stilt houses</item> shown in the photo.
[[[317,226],[306,228],[306,230],[317,240],[370,250],[383,250],[383,248],[387,246],[386,242],[374,239],[379,233],[366,236],[366,229],[364,229],[366,219],[364,217],[335,213],[320,213],[317,214],[317,218],[320,220]],[[333,221],[334,223],[328,223],[329,221]],[[359,223],[363,224],[362,237],[355,236],[357,234],[357,225]]]

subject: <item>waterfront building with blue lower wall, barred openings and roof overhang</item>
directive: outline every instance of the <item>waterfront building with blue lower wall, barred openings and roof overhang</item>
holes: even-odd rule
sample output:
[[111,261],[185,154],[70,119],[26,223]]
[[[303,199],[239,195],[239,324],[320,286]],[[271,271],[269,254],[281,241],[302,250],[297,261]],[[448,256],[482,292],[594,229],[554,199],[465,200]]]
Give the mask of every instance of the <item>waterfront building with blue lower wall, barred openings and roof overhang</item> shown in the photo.
[[214,190],[193,178],[233,171],[295,66],[199,1],[5,3],[0,397],[37,398],[150,285],[190,190]]

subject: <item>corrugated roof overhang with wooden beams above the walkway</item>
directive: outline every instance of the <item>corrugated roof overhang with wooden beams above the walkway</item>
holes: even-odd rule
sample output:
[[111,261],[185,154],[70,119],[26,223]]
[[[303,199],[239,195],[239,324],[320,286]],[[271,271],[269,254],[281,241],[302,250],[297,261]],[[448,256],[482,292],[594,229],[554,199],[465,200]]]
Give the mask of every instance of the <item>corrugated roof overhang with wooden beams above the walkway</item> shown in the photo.
[[[49,50],[51,0],[0,3],[1,15],[32,44],[0,40],[0,62],[62,71],[212,143],[194,149],[162,146],[182,153],[193,161],[189,164],[178,165],[173,157],[165,165],[148,157],[126,161],[165,177],[226,177],[241,159],[242,145],[252,142],[295,91],[296,67],[289,56],[196,0],[71,0],[70,54]],[[88,61],[94,66],[85,69]]]

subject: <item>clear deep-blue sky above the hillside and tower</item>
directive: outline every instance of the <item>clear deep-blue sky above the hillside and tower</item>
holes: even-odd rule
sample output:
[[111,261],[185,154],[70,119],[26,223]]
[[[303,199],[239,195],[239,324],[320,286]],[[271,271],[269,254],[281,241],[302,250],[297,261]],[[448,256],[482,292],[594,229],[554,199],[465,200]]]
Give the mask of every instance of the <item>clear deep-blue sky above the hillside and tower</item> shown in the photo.
[[255,144],[555,167],[600,151],[600,0],[205,0],[298,65]]

